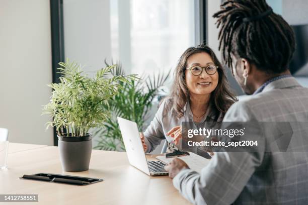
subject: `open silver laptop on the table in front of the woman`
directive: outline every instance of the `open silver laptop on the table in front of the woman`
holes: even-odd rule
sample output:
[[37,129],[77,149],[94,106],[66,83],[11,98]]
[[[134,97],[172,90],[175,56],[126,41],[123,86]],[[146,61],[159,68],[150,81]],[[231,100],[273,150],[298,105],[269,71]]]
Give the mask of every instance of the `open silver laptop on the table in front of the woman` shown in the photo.
[[137,124],[120,117],[118,122],[130,165],[150,176],[168,175],[164,162],[146,160]]

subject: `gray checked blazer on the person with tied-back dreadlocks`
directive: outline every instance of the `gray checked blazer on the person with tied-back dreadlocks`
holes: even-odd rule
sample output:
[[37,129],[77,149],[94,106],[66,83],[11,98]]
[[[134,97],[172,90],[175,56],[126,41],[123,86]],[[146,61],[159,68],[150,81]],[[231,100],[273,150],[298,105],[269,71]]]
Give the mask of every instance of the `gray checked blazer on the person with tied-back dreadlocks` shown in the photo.
[[[273,81],[236,102],[223,121],[308,125],[308,88],[293,77]],[[307,129],[300,132],[308,139]],[[216,152],[201,174],[182,170],[173,184],[195,204],[308,204],[308,152]]]

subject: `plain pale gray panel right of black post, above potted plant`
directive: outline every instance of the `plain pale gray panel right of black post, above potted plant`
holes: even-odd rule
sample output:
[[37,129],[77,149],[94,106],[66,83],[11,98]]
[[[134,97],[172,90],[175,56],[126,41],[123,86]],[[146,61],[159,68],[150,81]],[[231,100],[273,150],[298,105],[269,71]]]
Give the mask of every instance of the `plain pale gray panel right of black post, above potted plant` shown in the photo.
[[111,59],[109,0],[64,0],[65,58],[85,66],[88,74]]

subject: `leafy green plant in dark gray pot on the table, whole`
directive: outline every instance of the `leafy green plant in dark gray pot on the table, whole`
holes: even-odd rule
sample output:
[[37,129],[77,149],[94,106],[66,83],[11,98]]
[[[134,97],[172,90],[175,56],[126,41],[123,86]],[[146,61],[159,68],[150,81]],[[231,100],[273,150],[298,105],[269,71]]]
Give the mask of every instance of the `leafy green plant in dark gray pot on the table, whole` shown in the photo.
[[[110,117],[109,100],[121,89],[119,82],[128,82],[135,75],[110,75],[116,65],[106,66],[94,77],[83,75],[78,63],[59,63],[59,83],[49,84],[53,91],[43,114],[53,120],[58,136],[60,160],[64,171],[89,169],[92,152],[90,128],[104,125]],[[47,129],[46,128],[46,129]]]

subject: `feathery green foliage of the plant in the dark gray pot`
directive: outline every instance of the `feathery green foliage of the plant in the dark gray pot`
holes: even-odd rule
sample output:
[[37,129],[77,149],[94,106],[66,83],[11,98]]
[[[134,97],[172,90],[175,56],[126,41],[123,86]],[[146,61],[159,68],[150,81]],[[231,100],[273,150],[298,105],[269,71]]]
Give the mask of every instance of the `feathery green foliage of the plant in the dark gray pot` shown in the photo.
[[90,128],[103,126],[110,118],[110,99],[122,89],[121,83],[130,84],[136,77],[111,74],[116,65],[100,69],[93,78],[83,74],[78,63],[67,60],[59,65],[60,83],[48,85],[52,96],[43,109],[53,118],[47,128],[56,127],[59,136],[86,136]]

